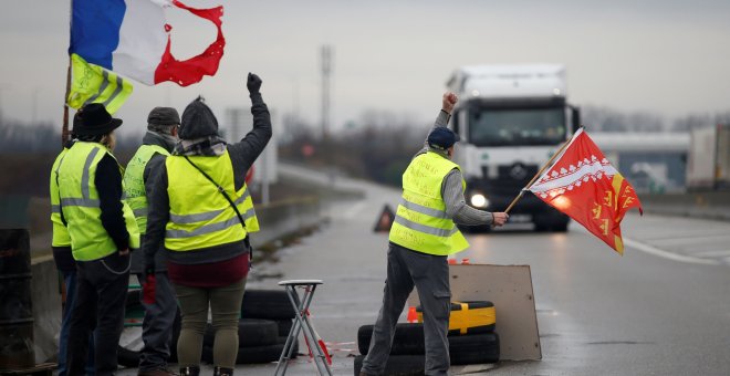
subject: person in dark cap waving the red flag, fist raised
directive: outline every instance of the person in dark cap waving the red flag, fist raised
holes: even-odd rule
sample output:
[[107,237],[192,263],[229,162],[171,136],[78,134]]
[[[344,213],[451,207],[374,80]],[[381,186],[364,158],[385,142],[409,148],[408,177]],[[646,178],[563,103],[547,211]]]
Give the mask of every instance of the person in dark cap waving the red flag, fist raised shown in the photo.
[[450,297],[447,257],[469,247],[456,223],[502,226],[504,212],[467,206],[466,182],[451,161],[459,136],[447,128],[458,98],[445,93],[424,148],[403,174],[403,198],[390,228],[387,280],[362,375],[382,375],[398,316],[414,286],[424,309],[426,375],[448,375]]

